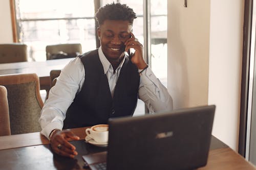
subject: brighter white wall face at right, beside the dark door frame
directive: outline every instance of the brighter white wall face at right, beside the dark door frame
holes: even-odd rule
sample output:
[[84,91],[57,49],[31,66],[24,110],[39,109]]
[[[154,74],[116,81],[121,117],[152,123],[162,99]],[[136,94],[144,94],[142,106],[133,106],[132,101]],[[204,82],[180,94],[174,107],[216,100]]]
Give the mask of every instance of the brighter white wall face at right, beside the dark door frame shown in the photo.
[[208,101],[217,105],[212,133],[237,151],[244,1],[211,1],[210,13]]

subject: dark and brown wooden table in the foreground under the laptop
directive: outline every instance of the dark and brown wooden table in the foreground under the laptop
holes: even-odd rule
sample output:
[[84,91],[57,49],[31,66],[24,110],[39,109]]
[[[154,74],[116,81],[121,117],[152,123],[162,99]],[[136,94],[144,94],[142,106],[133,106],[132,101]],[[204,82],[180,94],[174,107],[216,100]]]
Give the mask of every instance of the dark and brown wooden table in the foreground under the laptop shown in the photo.
[[[86,128],[71,129],[81,140],[72,141],[78,155],[75,159],[52,153],[49,140],[37,133],[0,137],[0,167],[3,169],[82,169],[82,155],[105,151],[84,142]],[[212,136],[206,169],[256,169],[226,144]]]

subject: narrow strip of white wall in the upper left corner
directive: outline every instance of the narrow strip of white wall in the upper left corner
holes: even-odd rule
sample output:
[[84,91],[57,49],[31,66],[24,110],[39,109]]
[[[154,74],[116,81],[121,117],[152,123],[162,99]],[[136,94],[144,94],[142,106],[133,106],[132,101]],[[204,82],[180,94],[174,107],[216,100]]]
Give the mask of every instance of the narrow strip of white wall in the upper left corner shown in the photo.
[[0,1],[0,23],[0,43],[13,42],[10,0]]

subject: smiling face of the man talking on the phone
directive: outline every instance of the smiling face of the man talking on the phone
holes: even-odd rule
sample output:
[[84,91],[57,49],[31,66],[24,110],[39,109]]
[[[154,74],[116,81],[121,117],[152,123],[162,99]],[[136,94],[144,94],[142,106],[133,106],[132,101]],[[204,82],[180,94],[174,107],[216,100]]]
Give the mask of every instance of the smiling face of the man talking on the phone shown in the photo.
[[131,37],[132,25],[126,20],[105,20],[98,28],[100,45],[108,60],[118,61],[123,56],[124,42]]

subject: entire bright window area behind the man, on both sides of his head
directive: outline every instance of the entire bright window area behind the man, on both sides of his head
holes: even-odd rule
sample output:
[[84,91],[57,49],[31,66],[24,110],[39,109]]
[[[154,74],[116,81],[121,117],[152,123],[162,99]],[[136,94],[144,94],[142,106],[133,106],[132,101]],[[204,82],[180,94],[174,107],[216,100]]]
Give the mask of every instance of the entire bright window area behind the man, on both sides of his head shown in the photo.
[[[146,61],[167,86],[167,0],[15,0],[18,41],[29,46],[31,61],[46,60],[49,44],[81,43],[83,53],[94,50],[94,9],[112,2],[127,4],[137,14],[133,33],[149,54],[144,55]],[[144,108],[139,100],[135,114],[144,114]]]

